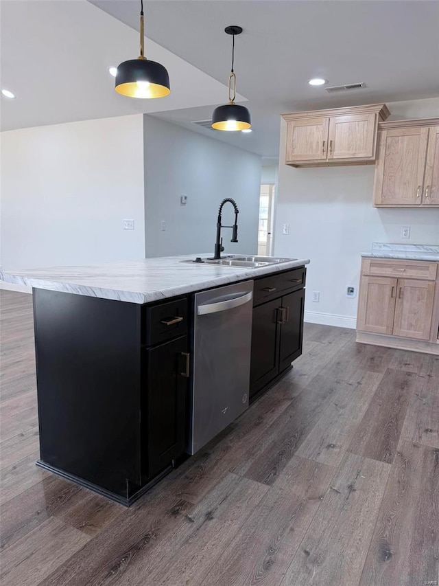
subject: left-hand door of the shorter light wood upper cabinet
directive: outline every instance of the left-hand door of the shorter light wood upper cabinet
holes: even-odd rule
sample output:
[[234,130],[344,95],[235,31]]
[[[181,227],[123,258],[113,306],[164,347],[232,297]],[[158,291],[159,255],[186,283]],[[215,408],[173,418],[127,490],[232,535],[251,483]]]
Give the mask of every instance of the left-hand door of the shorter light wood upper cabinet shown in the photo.
[[289,161],[316,161],[327,158],[329,118],[303,118],[287,122]]

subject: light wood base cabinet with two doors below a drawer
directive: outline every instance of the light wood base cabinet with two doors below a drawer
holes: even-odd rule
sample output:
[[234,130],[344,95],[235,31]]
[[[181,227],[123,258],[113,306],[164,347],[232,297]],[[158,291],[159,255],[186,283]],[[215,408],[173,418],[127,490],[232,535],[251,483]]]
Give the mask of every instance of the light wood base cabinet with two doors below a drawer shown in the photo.
[[[357,341],[407,348],[407,339],[423,341],[439,353],[438,262],[364,258],[357,315]],[[401,275],[396,278],[395,275]],[[420,275],[423,278],[419,278]],[[370,335],[375,335],[371,337]],[[377,337],[378,335],[378,337]],[[375,341],[373,341],[375,339]],[[401,343],[401,339],[405,339]],[[389,342],[390,341],[390,342]],[[434,351],[433,348],[436,347]],[[416,350],[418,348],[407,348]]]

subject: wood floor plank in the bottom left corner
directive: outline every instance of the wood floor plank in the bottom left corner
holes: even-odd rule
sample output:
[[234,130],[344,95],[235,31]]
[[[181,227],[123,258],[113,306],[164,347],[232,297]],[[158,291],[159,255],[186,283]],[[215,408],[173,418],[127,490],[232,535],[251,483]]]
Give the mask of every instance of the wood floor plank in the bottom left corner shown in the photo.
[[59,519],[47,519],[18,541],[14,548],[3,552],[1,585],[35,586],[89,539]]

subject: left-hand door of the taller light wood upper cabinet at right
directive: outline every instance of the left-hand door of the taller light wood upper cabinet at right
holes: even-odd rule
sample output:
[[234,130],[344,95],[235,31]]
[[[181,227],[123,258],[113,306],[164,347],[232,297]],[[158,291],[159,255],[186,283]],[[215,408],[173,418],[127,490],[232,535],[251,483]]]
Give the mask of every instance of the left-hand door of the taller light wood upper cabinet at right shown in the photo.
[[428,126],[414,126],[381,132],[374,205],[420,205],[428,131]]

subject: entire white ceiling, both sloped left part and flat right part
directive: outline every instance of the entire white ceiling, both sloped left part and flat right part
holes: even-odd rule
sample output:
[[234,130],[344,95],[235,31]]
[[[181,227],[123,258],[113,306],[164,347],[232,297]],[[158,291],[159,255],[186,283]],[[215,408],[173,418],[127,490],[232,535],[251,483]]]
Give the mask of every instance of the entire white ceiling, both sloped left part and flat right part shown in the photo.
[[[118,95],[106,68],[137,56],[138,0],[0,0],[2,129],[154,113],[166,120],[277,157],[282,112],[439,95],[437,0],[145,0],[149,58],[169,70],[161,100]],[[230,37],[238,24],[235,71],[254,132],[220,133],[192,124],[224,103]],[[331,85],[366,89],[328,94]]]

